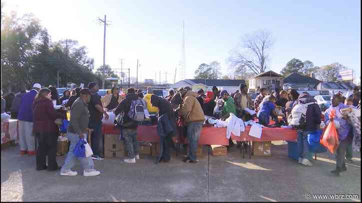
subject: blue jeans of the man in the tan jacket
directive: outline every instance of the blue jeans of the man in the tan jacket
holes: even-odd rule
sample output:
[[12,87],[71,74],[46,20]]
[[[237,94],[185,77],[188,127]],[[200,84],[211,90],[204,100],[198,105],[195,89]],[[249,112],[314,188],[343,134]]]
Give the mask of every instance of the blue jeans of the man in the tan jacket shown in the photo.
[[187,140],[189,142],[187,156],[193,161],[196,161],[196,150],[203,124],[204,122],[190,122],[187,124]]

